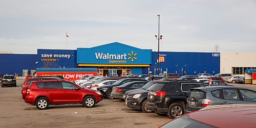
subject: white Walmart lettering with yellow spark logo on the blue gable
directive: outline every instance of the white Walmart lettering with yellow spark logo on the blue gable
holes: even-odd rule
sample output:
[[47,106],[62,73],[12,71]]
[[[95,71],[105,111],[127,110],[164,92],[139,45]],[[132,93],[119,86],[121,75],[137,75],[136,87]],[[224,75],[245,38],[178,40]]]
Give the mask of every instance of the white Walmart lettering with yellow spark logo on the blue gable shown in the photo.
[[[129,56],[127,58],[127,55]],[[109,63],[126,63],[126,60],[131,60],[132,62],[134,60],[137,60],[137,54],[134,54],[132,51],[131,54],[109,54],[109,53],[95,53],[95,57],[98,60],[109,60]]]

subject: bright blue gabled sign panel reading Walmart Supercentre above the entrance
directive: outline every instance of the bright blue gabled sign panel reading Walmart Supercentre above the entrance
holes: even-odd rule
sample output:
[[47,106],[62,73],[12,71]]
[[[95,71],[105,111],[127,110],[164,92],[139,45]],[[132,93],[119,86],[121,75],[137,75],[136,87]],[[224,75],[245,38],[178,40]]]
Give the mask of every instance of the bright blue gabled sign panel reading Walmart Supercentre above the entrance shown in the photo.
[[78,64],[152,64],[152,50],[114,42],[92,48],[77,48]]

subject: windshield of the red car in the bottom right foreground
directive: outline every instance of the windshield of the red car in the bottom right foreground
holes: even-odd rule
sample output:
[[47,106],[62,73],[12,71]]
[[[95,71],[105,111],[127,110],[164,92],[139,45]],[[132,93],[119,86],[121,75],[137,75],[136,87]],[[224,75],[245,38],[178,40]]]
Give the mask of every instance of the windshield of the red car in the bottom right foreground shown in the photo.
[[175,120],[172,120],[163,126],[161,128],[167,128],[167,127],[172,127],[172,128],[178,128],[178,127],[186,127],[186,128],[194,128],[194,127],[212,127],[209,125],[206,125],[204,123],[192,120],[189,118],[189,116],[182,116],[180,118],[177,118]]

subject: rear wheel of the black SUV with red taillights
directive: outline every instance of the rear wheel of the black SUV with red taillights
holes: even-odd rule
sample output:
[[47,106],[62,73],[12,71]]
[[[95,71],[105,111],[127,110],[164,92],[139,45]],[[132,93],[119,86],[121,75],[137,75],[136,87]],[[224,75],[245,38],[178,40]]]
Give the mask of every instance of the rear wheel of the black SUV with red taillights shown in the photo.
[[168,116],[172,119],[184,114],[184,109],[181,104],[171,104],[168,108]]

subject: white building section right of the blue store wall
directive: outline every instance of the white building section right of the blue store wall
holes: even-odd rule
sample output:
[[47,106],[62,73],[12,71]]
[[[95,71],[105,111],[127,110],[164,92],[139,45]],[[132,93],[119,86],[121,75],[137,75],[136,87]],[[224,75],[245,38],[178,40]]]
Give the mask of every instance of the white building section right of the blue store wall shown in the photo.
[[256,68],[256,53],[221,53],[220,73],[243,75],[246,69]]

